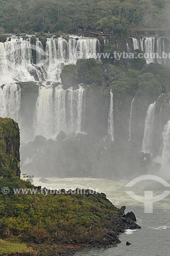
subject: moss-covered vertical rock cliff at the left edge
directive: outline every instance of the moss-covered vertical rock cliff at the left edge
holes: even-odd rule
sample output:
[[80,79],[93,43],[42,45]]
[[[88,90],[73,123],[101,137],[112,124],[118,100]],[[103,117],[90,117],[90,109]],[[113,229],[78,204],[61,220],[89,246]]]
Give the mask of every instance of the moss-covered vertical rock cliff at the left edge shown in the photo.
[[0,118],[0,176],[20,177],[19,127],[10,118]]

